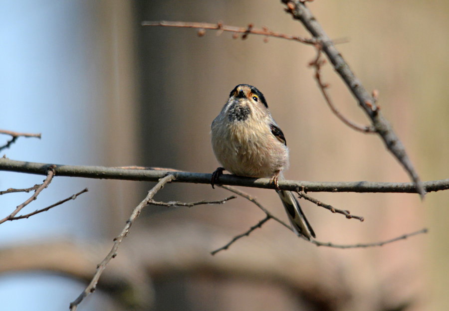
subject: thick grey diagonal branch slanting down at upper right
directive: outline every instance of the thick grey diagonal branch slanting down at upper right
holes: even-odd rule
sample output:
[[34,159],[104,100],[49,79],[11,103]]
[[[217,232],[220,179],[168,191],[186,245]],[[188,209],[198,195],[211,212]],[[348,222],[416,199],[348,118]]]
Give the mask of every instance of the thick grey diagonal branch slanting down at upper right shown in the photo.
[[349,65],[343,59],[343,56],[341,56],[340,52],[335,48],[333,42],[305,4],[299,0],[282,0],[282,2],[287,5],[285,10],[289,12],[293,18],[300,20],[312,36],[317,39],[322,46],[323,52],[327,55],[335,70],[349,87],[351,93],[359,102],[359,105],[371,119],[372,125],[376,129],[376,132],[381,136],[387,149],[403,165],[410,178],[415,183],[417,192],[421,195],[421,198],[423,198],[426,194],[426,188],[421,182],[404,146],[394,133],[390,123],[380,113],[379,106],[377,106],[373,96],[368,93],[360,80],[357,79],[351,71]]

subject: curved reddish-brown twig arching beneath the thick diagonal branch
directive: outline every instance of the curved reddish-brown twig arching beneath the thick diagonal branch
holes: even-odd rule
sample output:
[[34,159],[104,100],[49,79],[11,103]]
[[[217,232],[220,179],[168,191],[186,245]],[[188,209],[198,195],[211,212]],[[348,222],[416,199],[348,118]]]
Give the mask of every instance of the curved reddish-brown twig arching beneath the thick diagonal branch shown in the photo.
[[321,80],[321,66],[325,63],[324,59],[321,59],[321,45],[316,44],[316,57],[309,63],[310,66],[315,68],[315,79],[318,84],[318,88],[321,91],[321,94],[323,94],[324,99],[326,100],[327,105],[331,109],[331,111],[334,113],[334,115],[340,119],[341,122],[349,126],[351,129],[364,132],[364,133],[376,133],[376,129],[373,126],[366,126],[366,125],[358,125],[347,118],[345,118],[338,110],[335,108],[334,104],[332,103],[332,100],[330,99],[329,94],[327,93],[327,88],[329,87],[326,83],[323,83]]

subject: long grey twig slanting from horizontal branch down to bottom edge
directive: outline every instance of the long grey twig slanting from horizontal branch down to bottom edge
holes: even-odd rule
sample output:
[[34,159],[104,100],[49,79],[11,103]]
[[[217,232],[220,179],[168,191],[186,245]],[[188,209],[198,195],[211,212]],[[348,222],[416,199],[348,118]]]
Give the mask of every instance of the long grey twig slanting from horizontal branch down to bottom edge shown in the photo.
[[114,238],[114,245],[112,246],[111,251],[102,260],[102,262],[98,264],[97,270],[95,271],[95,274],[93,275],[89,285],[78,296],[78,298],[76,298],[73,302],[70,303],[70,310],[72,311],[76,310],[76,308],[83,301],[83,299],[86,298],[90,293],[93,293],[95,291],[98,280],[100,279],[101,274],[106,268],[106,265],[111,261],[112,258],[115,258],[115,256],[117,255],[117,250],[120,246],[120,243],[122,243],[123,239],[128,235],[129,229],[131,228],[136,218],[139,216],[142,209],[148,205],[148,201],[150,201],[155,196],[155,194],[164,187],[165,184],[171,182],[174,179],[175,176],[172,174],[169,174],[161,178],[161,180],[159,180],[159,182],[150,191],[148,191],[148,195],[145,197],[145,199],[143,199],[143,201],[140,202],[139,205],[137,205],[133,209],[131,216],[126,221],[126,225],[123,228],[122,232],[116,238]]

